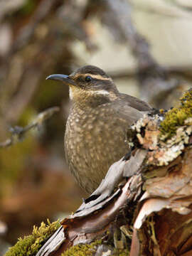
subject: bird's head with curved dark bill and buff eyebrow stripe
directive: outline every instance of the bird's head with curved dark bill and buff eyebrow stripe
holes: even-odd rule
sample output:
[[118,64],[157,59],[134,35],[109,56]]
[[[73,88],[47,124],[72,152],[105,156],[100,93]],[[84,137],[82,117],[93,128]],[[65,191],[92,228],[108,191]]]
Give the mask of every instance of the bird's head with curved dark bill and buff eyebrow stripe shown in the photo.
[[100,105],[117,99],[118,90],[112,78],[102,69],[92,65],[79,68],[70,75],[49,75],[70,87],[70,99],[80,105]]

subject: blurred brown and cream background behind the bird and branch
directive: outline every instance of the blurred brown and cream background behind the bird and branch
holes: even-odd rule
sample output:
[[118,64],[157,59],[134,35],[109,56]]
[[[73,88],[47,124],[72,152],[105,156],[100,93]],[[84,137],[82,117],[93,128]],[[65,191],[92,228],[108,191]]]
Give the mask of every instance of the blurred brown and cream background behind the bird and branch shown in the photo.
[[[46,77],[97,65],[120,91],[168,109],[191,87],[191,31],[191,0],[0,1],[0,255],[87,196],[65,164],[68,87]],[[11,127],[53,106],[60,112],[4,145]]]

